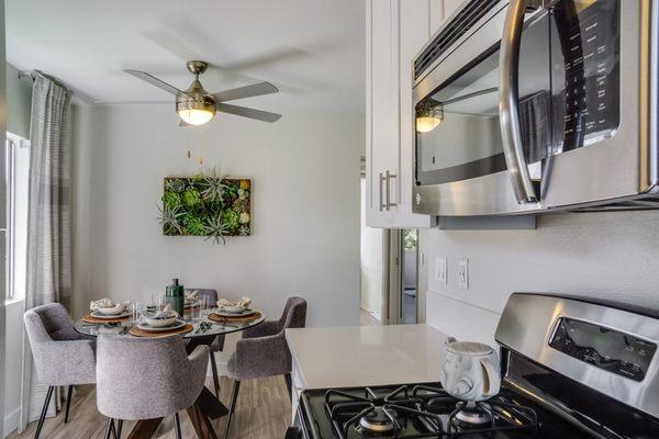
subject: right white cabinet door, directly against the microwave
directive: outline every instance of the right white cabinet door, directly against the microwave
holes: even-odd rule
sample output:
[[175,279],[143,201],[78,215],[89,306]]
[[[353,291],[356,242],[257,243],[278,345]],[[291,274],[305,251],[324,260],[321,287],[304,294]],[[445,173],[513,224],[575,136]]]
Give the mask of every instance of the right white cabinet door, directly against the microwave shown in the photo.
[[434,217],[412,213],[412,184],[414,180],[415,123],[412,104],[414,57],[429,38],[428,0],[399,1],[399,169],[396,178],[398,205],[394,226],[400,228],[429,227]]

